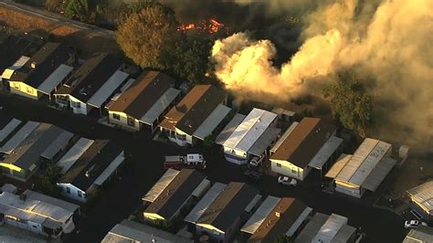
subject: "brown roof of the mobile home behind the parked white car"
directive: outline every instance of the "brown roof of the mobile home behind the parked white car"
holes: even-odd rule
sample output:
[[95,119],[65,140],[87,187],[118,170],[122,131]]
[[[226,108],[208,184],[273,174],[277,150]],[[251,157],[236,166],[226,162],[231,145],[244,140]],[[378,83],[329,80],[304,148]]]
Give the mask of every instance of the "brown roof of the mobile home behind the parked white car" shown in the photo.
[[333,124],[320,118],[305,117],[270,159],[288,161],[305,168],[335,130]]

